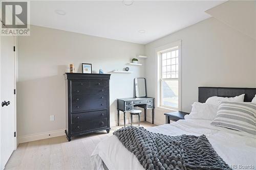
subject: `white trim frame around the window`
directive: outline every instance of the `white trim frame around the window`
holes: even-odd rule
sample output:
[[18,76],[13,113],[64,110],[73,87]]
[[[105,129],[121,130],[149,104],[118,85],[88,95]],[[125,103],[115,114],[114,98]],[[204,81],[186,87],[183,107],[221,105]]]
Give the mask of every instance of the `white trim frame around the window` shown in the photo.
[[[161,53],[172,50],[174,48],[177,48],[178,46],[178,60],[179,60],[179,78],[178,78],[178,88],[179,88],[179,94],[178,94],[178,108],[168,107],[168,106],[161,106],[162,103],[162,91],[161,91]],[[157,58],[157,81],[156,81],[156,105],[158,110],[163,111],[173,111],[173,110],[181,110],[181,40],[175,41],[173,43],[169,43],[160,47],[157,47],[155,49],[156,52],[156,58]],[[167,80],[167,79],[166,79]]]

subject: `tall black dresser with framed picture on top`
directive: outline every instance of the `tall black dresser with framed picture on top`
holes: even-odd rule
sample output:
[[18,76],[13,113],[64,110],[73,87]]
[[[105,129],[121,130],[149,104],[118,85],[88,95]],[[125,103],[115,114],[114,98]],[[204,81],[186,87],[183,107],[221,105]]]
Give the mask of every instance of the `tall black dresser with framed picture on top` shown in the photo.
[[66,73],[66,135],[110,132],[110,74]]

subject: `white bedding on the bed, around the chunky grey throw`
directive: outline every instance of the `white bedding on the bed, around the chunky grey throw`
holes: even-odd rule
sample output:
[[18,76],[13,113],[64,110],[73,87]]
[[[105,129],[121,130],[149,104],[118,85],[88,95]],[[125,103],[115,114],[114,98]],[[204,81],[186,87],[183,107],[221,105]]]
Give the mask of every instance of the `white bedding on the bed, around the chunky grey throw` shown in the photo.
[[[211,120],[185,119],[147,130],[171,136],[205,134],[215,151],[231,168],[256,169],[256,136],[214,127],[210,122]],[[128,151],[115,135],[99,142],[91,160],[94,169],[103,169],[102,161],[109,170],[144,169],[136,156]]]

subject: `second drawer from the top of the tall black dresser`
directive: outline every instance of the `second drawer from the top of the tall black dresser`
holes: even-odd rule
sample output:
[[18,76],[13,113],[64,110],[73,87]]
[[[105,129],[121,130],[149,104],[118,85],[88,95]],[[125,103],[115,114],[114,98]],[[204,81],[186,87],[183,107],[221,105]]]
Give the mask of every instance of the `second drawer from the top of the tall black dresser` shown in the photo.
[[107,94],[108,87],[74,87],[72,88],[73,95],[83,95],[83,94]]

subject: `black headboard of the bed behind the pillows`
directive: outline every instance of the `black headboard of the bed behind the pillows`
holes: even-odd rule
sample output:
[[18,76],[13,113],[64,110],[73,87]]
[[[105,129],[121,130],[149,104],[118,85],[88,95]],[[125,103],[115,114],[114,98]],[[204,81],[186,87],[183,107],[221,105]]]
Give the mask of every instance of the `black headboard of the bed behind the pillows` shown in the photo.
[[241,94],[245,94],[244,102],[251,102],[256,94],[256,88],[198,87],[198,102],[205,103],[211,96],[230,98]]

